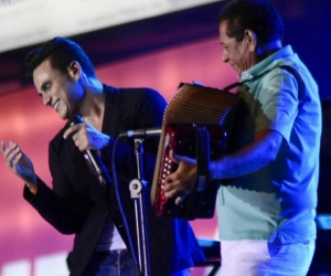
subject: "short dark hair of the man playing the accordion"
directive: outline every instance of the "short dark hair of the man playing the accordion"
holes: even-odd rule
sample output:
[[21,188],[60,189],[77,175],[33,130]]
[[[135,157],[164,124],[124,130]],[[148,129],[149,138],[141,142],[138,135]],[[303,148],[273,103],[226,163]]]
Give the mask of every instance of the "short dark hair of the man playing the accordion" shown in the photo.
[[282,39],[282,20],[267,0],[233,0],[221,10],[222,21],[228,21],[226,34],[237,42],[243,41],[245,30],[256,33],[259,46]]

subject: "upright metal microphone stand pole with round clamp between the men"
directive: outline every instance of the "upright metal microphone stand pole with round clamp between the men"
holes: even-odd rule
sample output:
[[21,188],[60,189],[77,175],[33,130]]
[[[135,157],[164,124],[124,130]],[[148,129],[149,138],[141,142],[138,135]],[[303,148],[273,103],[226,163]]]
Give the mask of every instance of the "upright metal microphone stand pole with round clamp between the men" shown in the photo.
[[150,275],[149,254],[148,254],[148,235],[147,235],[147,216],[146,216],[146,194],[145,188],[147,182],[143,180],[143,139],[135,138],[135,153],[137,162],[137,179],[132,179],[129,184],[131,199],[135,200],[137,244],[139,273],[142,276]]

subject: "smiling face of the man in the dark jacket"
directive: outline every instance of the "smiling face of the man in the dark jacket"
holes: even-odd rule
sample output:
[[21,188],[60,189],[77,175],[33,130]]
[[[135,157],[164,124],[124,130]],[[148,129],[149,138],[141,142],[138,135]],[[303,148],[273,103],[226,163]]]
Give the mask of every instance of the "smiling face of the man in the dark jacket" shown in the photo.
[[71,74],[63,74],[45,60],[33,72],[33,83],[43,103],[54,108],[62,119],[68,119],[77,109],[82,87]]

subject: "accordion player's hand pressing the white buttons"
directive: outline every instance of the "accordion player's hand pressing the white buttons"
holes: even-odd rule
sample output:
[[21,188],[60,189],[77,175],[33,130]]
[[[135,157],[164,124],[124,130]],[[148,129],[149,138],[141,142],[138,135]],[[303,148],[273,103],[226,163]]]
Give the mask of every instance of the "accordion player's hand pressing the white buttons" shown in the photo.
[[166,198],[174,198],[180,204],[194,189],[196,180],[196,161],[189,157],[178,156],[170,150],[170,158],[178,163],[178,169],[164,180]]

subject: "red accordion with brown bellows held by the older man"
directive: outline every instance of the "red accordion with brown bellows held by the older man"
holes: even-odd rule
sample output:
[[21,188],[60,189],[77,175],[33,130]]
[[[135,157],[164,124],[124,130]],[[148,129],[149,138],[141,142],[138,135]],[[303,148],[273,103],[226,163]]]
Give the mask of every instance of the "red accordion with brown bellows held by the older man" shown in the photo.
[[[157,166],[151,187],[151,203],[159,216],[183,220],[210,219],[214,215],[220,180],[207,181],[210,160],[227,150],[239,98],[236,94],[195,84],[180,84],[163,115]],[[164,197],[163,184],[178,164],[169,158],[177,155],[196,159],[197,177],[193,191],[175,204]]]

